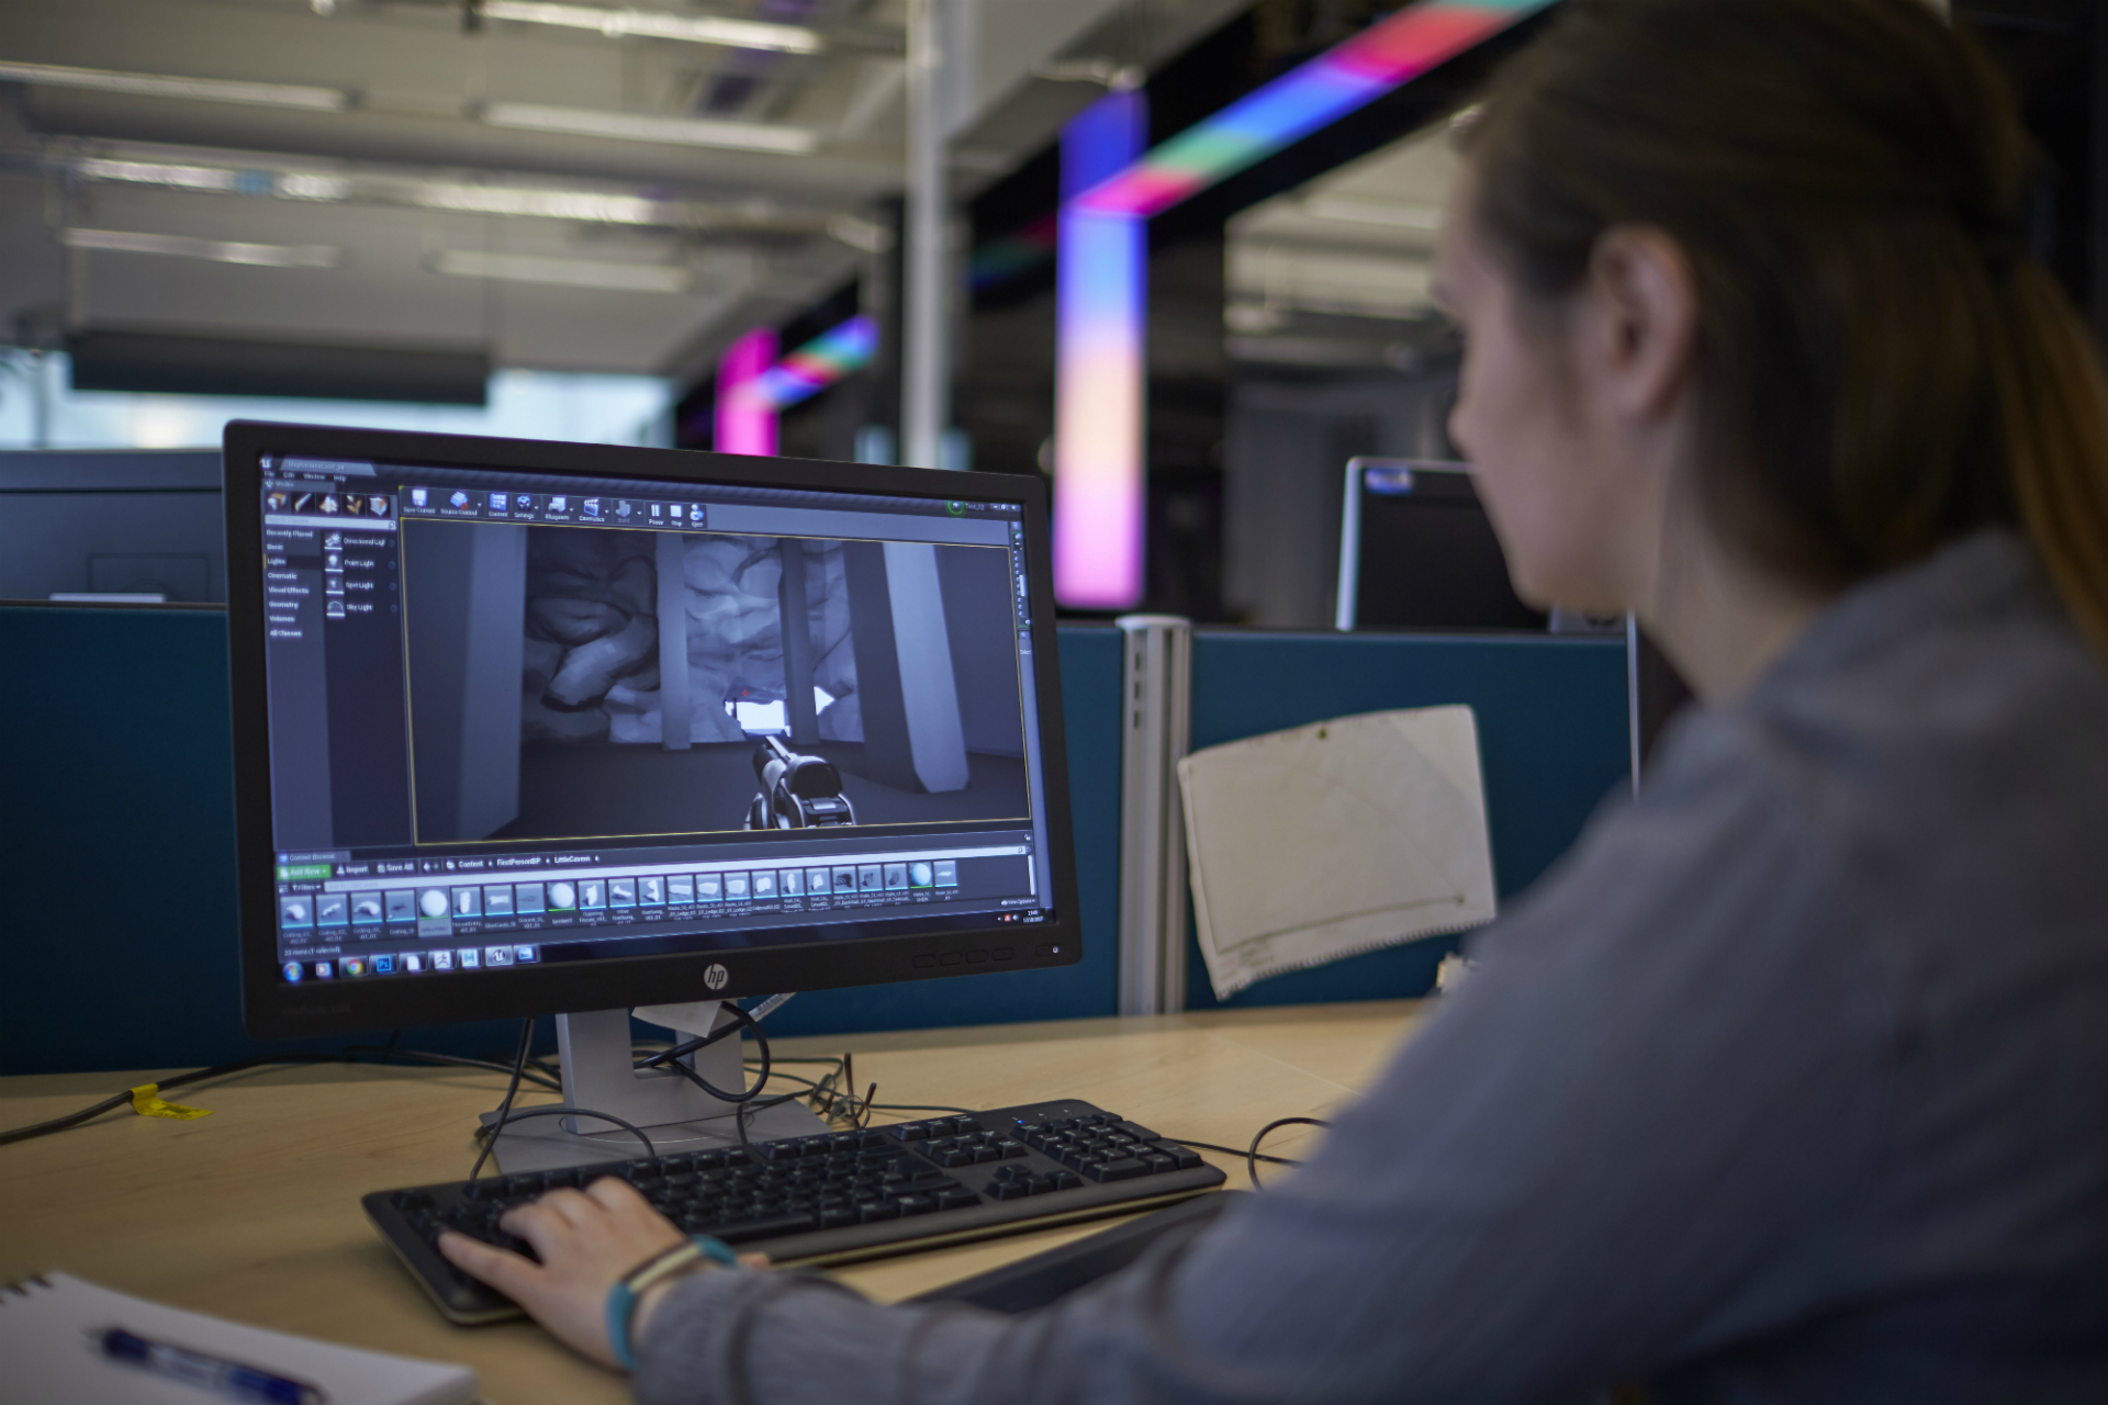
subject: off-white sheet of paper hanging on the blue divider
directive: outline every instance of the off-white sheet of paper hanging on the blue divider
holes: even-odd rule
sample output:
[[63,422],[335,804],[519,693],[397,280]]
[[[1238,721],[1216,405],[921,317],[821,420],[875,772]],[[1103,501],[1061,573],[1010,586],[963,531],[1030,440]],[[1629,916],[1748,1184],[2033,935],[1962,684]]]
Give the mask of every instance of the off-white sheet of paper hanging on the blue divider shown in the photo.
[[1313,723],[1178,763],[1216,998],[1495,916],[1469,708]]

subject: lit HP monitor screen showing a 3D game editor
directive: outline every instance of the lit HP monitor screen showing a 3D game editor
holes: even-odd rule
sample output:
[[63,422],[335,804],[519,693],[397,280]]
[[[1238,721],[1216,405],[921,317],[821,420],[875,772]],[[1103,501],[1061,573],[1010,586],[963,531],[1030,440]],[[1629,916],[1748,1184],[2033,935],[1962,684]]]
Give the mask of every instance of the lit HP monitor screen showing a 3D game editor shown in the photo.
[[1052,916],[1016,503],[261,468],[285,982]]

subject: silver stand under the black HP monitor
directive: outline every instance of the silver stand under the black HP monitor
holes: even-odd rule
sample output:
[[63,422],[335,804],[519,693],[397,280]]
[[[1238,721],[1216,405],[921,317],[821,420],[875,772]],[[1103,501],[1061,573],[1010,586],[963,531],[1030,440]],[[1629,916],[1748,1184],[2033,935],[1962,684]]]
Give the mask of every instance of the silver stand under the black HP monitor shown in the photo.
[[[725,1009],[719,1001],[649,1005],[639,1007],[637,1017],[670,1028],[679,1043],[729,1024],[731,1015]],[[597,1009],[557,1015],[557,1049],[563,1057],[563,1102],[573,1108],[613,1112],[622,1121],[635,1123],[651,1137],[651,1146],[660,1154],[721,1150],[740,1144],[734,1112],[742,1104],[713,1097],[670,1068],[639,1070],[635,1066],[630,1011]],[[746,1087],[738,1034],[725,1034],[683,1062],[713,1087]],[[767,1102],[774,1095],[769,1091],[755,1102]],[[485,1127],[495,1121],[495,1112],[483,1114]],[[801,1137],[826,1129],[818,1114],[795,1102],[780,1102],[746,1114],[746,1137],[753,1142]],[[497,1169],[508,1175],[630,1161],[643,1154],[643,1142],[628,1131],[588,1116],[535,1116],[525,1123],[508,1123],[495,1148]]]

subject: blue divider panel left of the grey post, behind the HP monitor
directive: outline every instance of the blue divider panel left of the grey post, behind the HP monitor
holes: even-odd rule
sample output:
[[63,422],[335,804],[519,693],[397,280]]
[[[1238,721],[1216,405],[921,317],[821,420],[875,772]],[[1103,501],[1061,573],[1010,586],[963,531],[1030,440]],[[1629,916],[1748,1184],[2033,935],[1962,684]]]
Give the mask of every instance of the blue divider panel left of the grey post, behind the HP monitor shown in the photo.
[[[335,1051],[388,1030],[242,1030],[221,611],[0,607],[0,1074]],[[1062,628],[1084,961],[1060,971],[809,992],[782,1034],[1107,1015],[1117,1003],[1119,632]],[[512,1022],[405,1030],[487,1055]],[[552,1045],[542,1032],[540,1045]]]

